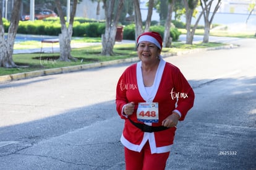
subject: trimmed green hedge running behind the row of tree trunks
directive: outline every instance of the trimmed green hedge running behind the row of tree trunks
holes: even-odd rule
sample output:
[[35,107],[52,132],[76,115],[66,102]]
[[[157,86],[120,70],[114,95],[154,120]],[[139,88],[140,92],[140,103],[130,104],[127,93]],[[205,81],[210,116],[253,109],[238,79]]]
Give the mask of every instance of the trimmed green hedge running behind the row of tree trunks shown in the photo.
[[[10,23],[7,20],[3,20],[3,22],[4,22],[4,30],[5,32],[8,32],[8,27]],[[151,25],[150,31],[159,32],[161,36],[163,36],[164,26]],[[74,21],[72,36],[101,37],[101,35],[104,32],[105,32],[105,22],[94,22],[93,20],[88,21],[88,19],[78,18],[78,19],[75,19]],[[58,36],[59,33],[61,33],[61,23],[59,19],[20,21],[17,33]],[[177,30],[177,28],[171,27],[170,35],[173,38],[173,41],[177,41],[181,33]],[[123,39],[124,40],[135,39],[134,23],[124,26]]]

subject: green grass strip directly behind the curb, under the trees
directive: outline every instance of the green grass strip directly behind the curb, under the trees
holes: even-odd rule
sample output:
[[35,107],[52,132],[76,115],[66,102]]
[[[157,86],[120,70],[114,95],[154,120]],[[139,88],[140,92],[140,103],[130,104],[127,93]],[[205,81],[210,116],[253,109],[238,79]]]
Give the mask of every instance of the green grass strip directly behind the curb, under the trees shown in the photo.
[[[172,48],[163,48],[162,53],[176,53],[177,51],[207,48],[209,46],[221,46],[221,43],[207,43],[197,45],[184,45],[183,43],[173,43]],[[78,60],[64,62],[58,61],[59,53],[34,53],[34,54],[14,54],[15,64],[20,67],[6,69],[0,67],[0,75],[17,74],[21,72],[30,72],[35,70],[53,69],[58,67],[76,66],[81,64],[90,64],[93,62],[104,62],[116,59],[126,59],[137,57],[135,44],[115,45],[114,56],[102,56],[101,45],[87,46],[85,48],[74,48],[71,51],[72,56]]]

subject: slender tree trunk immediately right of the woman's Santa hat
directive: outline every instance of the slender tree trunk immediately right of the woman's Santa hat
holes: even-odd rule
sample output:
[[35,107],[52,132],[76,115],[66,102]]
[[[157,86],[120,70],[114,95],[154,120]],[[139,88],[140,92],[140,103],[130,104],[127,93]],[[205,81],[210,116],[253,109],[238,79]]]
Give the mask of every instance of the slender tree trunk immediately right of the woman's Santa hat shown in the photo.
[[165,29],[164,29],[164,38],[163,38],[163,47],[171,47],[172,38],[170,36],[170,29],[171,29],[171,18],[173,14],[173,4],[174,0],[168,3],[168,13],[165,22]]

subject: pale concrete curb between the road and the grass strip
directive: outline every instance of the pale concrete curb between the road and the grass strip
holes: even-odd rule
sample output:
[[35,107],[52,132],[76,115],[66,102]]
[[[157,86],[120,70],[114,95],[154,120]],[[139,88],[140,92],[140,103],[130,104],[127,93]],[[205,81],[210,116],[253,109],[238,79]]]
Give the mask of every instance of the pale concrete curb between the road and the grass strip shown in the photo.
[[[220,46],[220,47],[214,47],[214,48],[200,48],[200,49],[189,49],[186,51],[179,51],[177,53],[162,53],[163,57],[171,57],[171,56],[180,56],[184,54],[190,54],[190,53],[197,53],[199,51],[209,51],[209,50],[216,50],[216,49],[231,49],[236,48],[237,46],[234,45],[226,45],[226,46]],[[55,69],[46,69],[46,70],[36,70],[32,72],[23,72],[18,74],[11,74],[11,75],[1,75],[0,76],[0,83],[7,83],[14,80],[22,80],[22,79],[31,79],[34,77],[40,77],[45,75],[54,75],[54,74],[64,74],[68,72],[75,72],[80,70],[87,70],[87,69],[93,69],[93,68],[100,68],[100,67],[106,67],[106,66],[112,66],[116,64],[124,64],[129,62],[137,62],[139,61],[138,57],[132,57],[128,59],[117,59],[113,61],[105,61],[105,62],[95,62],[92,64],[82,64],[78,66],[68,66],[68,67],[60,67]]]

